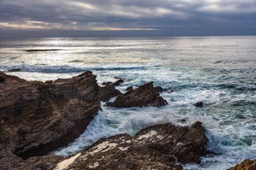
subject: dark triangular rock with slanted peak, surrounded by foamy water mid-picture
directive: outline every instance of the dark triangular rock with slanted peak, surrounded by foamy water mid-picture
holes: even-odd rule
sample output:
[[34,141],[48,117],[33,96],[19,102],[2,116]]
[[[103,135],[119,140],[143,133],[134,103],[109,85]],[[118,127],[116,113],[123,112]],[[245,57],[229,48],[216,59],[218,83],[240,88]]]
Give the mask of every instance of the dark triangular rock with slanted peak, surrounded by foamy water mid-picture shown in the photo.
[[115,108],[161,106],[167,104],[167,101],[154,90],[153,82],[141,85],[137,89],[131,89],[123,95],[119,95],[115,101],[106,103],[107,106]]

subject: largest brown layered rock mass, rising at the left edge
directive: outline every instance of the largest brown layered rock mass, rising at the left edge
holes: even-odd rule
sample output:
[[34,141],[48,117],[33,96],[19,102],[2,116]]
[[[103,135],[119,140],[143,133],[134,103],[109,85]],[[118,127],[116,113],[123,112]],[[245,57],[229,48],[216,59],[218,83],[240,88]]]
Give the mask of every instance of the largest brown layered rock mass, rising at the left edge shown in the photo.
[[[6,157],[28,159],[67,146],[100,109],[96,76],[90,71],[52,83],[0,75],[5,77],[0,85],[0,153],[7,148]],[[5,156],[0,155],[0,169]]]

